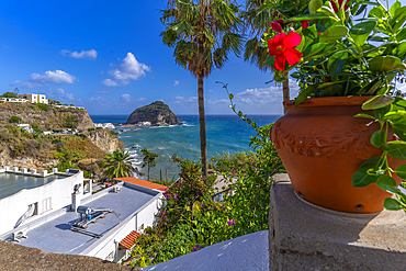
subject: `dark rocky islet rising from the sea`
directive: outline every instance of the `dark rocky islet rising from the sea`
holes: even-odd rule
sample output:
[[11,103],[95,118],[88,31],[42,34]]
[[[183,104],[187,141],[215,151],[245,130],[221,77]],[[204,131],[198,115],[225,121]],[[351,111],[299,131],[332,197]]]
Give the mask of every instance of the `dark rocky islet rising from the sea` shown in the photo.
[[169,106],[160,101],[153,102],[131,113],[127,124],[137,124],[138,122],[150,122],[151,125],[158,126],[182,124]]

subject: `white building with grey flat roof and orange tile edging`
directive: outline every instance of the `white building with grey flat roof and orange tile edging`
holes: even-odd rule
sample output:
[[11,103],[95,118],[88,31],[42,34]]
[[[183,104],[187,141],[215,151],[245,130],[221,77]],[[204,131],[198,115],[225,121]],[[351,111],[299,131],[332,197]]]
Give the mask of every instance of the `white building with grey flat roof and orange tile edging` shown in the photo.
[[[135,178],[117,181],[95,194],[83,194],[83,173],[77,170],[8,197],[0,194],[0,239],[45,252],[120,262],[128,257],[139,233],[153,226],[166,187]],[[90,211],[82,215],[81,210]],[[30,217],[20,223],[24,215]]]

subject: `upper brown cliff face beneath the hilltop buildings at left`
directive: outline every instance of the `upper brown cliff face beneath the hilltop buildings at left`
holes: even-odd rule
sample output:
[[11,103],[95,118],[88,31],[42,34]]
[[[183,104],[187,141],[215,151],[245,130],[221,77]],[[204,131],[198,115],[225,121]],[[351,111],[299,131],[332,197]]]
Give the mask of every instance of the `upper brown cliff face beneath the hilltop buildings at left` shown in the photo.
[[94,128],[94,123],[86,110],[55,108],[54,105],[47,108],[47,110],[41,110],[32,103],[0,103],[0,124],[8,124],[12,116],[16,116],[21,118],[21,123],[29,123],[44,131],[72,127],[83,131]]

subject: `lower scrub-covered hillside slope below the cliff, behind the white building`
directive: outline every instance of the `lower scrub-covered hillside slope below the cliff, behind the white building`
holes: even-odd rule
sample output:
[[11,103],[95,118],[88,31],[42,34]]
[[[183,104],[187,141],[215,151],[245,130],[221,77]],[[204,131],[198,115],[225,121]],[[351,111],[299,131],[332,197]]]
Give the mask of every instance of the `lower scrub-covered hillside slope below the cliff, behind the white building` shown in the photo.
[[36,135],[14,125],[0,127],[0,166],[29,169],[71,168],[82,166],[88,159],[101,161],[106,151],[93,144],[90,137],[100,135],[122,147],[114,132],[92,131],[80,135]]

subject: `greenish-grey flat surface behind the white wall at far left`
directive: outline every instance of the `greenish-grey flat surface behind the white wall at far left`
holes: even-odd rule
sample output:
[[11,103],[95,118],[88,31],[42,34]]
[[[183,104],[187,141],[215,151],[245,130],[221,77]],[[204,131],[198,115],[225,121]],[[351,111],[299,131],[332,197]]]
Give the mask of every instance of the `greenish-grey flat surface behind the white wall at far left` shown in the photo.
[[65,179],[68,176],[52,174],[40,178],[19,173],[0,173],[0,200],[13,195],[23,189],[35,189],[47,184],[56,179]]

